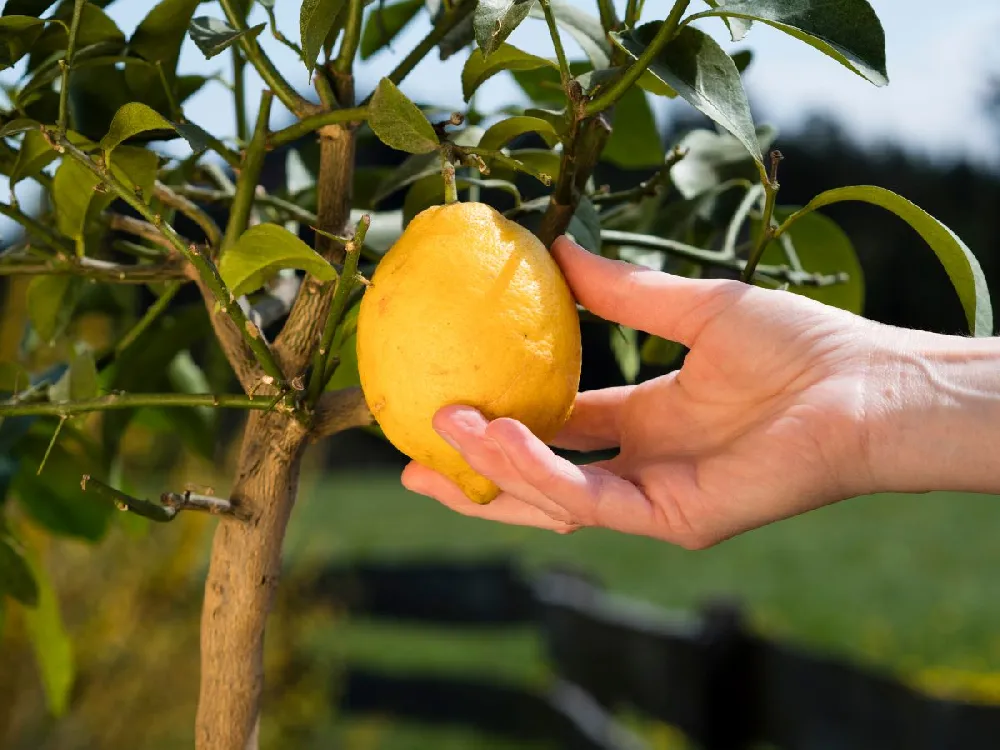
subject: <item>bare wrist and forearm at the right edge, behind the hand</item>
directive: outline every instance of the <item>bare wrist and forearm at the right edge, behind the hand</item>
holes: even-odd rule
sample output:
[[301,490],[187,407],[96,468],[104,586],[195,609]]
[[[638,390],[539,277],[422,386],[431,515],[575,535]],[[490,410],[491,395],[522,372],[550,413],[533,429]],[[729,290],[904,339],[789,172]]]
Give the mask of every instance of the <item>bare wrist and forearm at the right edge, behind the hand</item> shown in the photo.
[[1000,494],[1000,339],[891,338],[869,380],[875,488]]

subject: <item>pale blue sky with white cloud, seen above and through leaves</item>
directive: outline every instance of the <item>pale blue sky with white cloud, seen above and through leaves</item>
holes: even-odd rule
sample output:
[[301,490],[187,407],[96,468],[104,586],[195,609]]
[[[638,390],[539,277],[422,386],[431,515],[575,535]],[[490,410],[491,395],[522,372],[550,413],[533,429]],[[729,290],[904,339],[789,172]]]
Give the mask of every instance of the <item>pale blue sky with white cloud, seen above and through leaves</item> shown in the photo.
[[[582,9],[593,10],[594,0],[570,0]],[[1000,2],[990,0],[870,0],[885,27],[890,84],[876,88],[852,74],[820,52],[774,29],[758,24],[750,35],[732,45],[717,19],[706,19],[701,28],[712,33],[727,48],[749,47],[755,61],[747,74],[747,87],[763,118],[779,128],[796,129],[814,113],[828,113],[841,120],[859,139],[868,143],[903,144],[920,153],[936,157],[966,157],[974,161],[1000,163],[1000,128],[992,128],[984,116],[983,100],[991,71],[1000,75],[1000,51],[995,38],[1000,33]],[[118,0],[108,9],[126,34],[131,33],[153,7],[152,0]],[[616,4],[623,7],[624,0]],[[701,3],[695,0],[692,8]],[[646,17],[659,17],[655,9],[666,8],[665,0],[648,0]],[[298,38],[299,0],[277,0],[276,9],[282,31]],[[221,17],[213,4],[205,4],[199,13]],[[659,15],[662,15],[659,14]],[[262,9],[255,9],[252,20],[265,20]],[[359,94],[366,93],[378,78],[388,72],[428,28],[421,15],[394,43],[359,71]],[[293,84],[305,88],[304,67],[285,47],[268,34],[260,37],[278,67]],[[545,25],[526,21],[511,37],[511,43],[551,56],[551,42]],[[582,56],[572,40],[566,40],[570,55]],[[441,62],[436,55],[424,60],[406,79],[402,88],[411,97],[462,107],[459,74],[467,53]],[[204,73],[218,70],[228,73],[229,58],[220,55],[205,61],[190,41],[181,57],[182,72]],[[20,66],[19,66],[20,67]],[[250,70],[248,68],[248,70]],[[19,71],[18,71],[19,72]],[[10,71],[0,74],[10,80]],[[248,78],[248,106],[253,112],[261,81],[251,71]],[[489,81],[478,95],[500,107],[519,102],[519,90],[510,79],[498,76]],[[482,106],[482,105],[481,105]],[[669,106],[686,106],[682,102]],[[213,132],[231,133],[233,114],[230,99],[219,84],[210,83],[185,107],[195,122]],[[658,116],[669,116],[669,110]],[[290,118],[280,106],[273,125],[278,127]],[[0,226],[0,234],[6,226]]]

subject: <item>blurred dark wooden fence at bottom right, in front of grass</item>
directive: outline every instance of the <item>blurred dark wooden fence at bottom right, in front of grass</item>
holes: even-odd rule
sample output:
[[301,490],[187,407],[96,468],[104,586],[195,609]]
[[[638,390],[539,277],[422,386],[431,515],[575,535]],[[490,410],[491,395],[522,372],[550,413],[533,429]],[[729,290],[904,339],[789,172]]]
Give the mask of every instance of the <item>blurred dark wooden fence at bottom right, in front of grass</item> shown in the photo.
[[354,615],[463,629],[537,628],[555,685],[349,669],[347,712],[469,725],[581,750],[642,743],[613,717],[672,724],[705,750],[994,750],[1000,706],[919,693],[876,671],[751,632],[731,603],[698,615],[616,597],[579,575],[506,563],[330,568],[312,592]]

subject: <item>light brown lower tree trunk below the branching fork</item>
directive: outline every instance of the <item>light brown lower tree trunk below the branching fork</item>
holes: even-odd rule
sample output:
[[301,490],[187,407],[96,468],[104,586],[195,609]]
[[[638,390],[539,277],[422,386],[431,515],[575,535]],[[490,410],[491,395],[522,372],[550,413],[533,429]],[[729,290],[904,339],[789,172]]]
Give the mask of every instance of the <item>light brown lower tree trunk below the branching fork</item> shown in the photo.
[[306,436],[306,427],[284,414],[248,417],[231,493],[245,520],[219,520],[205,582],[198,750],[256,745],[264,625],[278,585]]

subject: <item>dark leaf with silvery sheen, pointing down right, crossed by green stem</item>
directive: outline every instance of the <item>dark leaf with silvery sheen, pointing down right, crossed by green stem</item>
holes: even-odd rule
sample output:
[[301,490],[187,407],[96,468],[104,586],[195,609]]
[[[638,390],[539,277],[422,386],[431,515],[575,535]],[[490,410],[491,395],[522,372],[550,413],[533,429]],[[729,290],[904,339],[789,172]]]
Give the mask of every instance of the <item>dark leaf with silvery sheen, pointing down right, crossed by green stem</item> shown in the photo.
[[[660,23],[633,31],[612,32],[615,43],[633,59],[646,49]],[[683,27],[649,67],[695,109],[736,136],[763,169],[764,158],[754,132],[750,104],[733,59],[712,37],[692,26]]]

